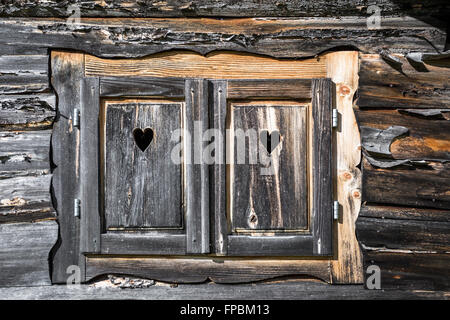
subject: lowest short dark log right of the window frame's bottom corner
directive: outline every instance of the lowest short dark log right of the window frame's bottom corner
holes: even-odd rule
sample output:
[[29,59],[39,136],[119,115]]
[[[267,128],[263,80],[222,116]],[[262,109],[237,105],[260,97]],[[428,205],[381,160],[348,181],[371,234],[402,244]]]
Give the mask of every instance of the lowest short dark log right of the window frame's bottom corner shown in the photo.
[[450,254],[365,251],[364,269],[372,264],[380,267],[382,289],[450,288]]

